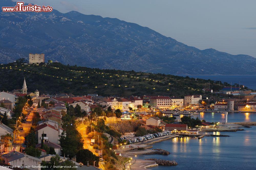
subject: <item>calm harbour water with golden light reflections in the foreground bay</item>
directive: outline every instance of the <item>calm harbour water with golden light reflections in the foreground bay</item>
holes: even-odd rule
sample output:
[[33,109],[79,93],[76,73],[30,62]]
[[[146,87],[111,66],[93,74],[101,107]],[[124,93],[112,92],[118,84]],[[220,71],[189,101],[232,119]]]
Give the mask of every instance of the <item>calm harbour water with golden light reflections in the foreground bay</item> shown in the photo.
[[[217,122],[222,119],[222,114],[201,113],[198,117]],[[228,122],[233,121],[256,121],[256,114],[228,114]],[[178,163],[177,166],[152,167],[152,170],[256,169],[256,126],[244,129],[245,131],[238,132],[208,132],[230,137],[185,137],[162,141],[155,143],[153,148],[167,150],[170,155],[138,155],[138,158],[175,160]]]

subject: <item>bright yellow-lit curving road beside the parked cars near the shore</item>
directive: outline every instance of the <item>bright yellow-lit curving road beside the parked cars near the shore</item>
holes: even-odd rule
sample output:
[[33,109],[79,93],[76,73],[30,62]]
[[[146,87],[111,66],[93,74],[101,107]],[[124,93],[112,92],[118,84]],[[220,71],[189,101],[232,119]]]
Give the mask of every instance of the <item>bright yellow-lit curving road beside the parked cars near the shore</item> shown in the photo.
[[[84,140],[83,148],[90,150],[94,155],[99,156],[97,152],[95,152],[95,149],[93,149],[93,146],[91,146],[91,140],[88,138],[88,135],[86,134],[86,127],[87,125],[82,125],[77,127],[78,132],[82,135],[82,138]],[[100,146],[99,146],[100,150]],[[99,168],[103,169],[104,162],[99,162]]]

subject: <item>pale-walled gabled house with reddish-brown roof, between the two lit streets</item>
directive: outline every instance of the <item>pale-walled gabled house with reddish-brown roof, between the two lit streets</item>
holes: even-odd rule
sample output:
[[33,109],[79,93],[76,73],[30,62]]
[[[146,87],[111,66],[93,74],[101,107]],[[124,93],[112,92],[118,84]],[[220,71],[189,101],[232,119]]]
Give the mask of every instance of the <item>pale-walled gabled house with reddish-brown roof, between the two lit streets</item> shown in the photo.
[[36,136],[38,143],[41,143],[42,137],[44,141],[59,143],[59,130],[47,122],[36,127]]

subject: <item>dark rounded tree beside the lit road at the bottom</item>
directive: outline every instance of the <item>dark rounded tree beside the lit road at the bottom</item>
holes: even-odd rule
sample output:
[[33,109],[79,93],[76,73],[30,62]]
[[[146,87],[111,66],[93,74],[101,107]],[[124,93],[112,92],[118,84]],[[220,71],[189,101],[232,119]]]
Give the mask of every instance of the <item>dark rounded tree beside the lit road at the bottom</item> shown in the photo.
[[93,165],[94,161],[95,162],[95,166],[99,166],[99,156],[94,155],[91,151],[89,151],[88,149],[82,149],[79,150],[76,154],[77,156],[77,162],[81,162],[82,164],[86,165],[87,162],[90,165]]

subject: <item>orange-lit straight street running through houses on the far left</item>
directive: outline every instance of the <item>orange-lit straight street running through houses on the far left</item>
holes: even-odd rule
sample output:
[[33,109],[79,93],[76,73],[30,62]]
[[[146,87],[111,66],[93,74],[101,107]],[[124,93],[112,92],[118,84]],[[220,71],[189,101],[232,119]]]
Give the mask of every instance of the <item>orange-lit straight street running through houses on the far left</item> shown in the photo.
[[14,143],[13,143],[12,151],[19,151],[20,144],[22,144],[25,140],[24,137],[21,136],[20,134],[23,134],[24,132],[29,130],[30,127],[32,126],[31,121],[32,121],[34,112],[36,112],[35,108],[30,112],[30,115],[28,115],[26,123],[22,123],[23,130],[19,130],[19,133],[18,133],[19,136],[16,138],[16,141],[14,141]]

